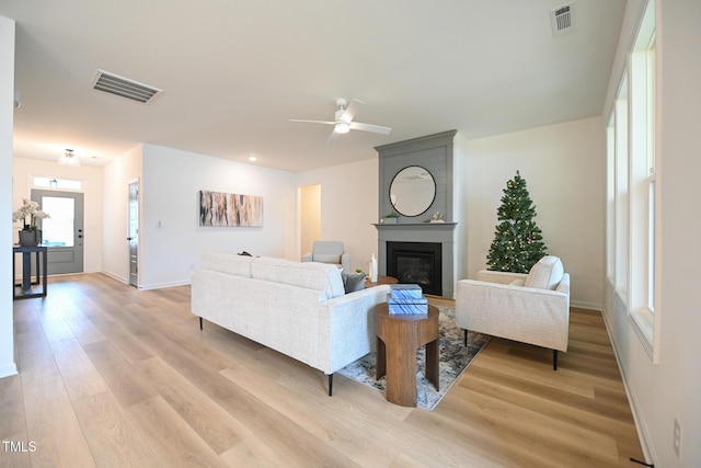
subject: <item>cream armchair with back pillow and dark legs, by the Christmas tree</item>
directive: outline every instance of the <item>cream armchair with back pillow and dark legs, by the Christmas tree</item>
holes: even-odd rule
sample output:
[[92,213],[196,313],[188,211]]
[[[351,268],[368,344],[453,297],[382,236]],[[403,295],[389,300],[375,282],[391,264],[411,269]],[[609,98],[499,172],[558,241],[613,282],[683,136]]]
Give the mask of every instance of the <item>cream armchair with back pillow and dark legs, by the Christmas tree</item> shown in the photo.
[[468,330],[558,351],[567,351],[570,274],[547,255],[528,274],[483,270],[456,287],[456,324]]

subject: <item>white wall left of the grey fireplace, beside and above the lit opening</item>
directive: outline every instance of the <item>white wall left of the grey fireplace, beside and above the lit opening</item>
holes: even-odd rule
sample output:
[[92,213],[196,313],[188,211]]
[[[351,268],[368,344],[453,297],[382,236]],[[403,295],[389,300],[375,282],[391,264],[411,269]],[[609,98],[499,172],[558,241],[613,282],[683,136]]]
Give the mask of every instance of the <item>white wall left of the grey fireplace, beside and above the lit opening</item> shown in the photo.
[[343,241],[353,271],[367,272],[377,254],[378,178],[377,159],[297,174],[300,186],[321,185],[321,240]]

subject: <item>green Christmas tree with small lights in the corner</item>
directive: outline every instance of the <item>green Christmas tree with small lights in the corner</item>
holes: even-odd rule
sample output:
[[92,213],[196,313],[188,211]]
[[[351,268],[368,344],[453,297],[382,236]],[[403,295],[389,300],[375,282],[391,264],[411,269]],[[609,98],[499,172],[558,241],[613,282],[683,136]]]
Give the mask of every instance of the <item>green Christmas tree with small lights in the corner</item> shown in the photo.
[[528,273],[547,252],[540,228],[533,221],[536,206],[530,199],[526,180],[516,176],[506,183],[502,206],[496,212],[502,221],[486,255],[489,270]]

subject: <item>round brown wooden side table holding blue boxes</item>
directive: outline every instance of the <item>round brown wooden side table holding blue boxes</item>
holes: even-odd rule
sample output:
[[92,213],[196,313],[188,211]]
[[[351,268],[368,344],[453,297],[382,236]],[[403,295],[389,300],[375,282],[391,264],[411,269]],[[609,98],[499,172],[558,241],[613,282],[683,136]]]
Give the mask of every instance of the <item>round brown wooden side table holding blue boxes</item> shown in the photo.
[[387,303],[375,306],[376,379],[387,374],[387,401],[416,406],[416,350],[426,345],[426,378],[439,389],[438,309],[428,315],[390,315]]

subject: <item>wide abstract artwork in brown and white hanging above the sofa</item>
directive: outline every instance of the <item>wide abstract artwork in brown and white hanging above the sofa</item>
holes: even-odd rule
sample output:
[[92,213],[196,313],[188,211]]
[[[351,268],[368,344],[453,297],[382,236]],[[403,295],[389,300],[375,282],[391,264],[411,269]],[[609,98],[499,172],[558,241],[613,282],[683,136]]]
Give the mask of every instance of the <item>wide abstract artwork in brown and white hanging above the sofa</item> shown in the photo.
[[199,191],[199,226],[263,226],[263,197]]

